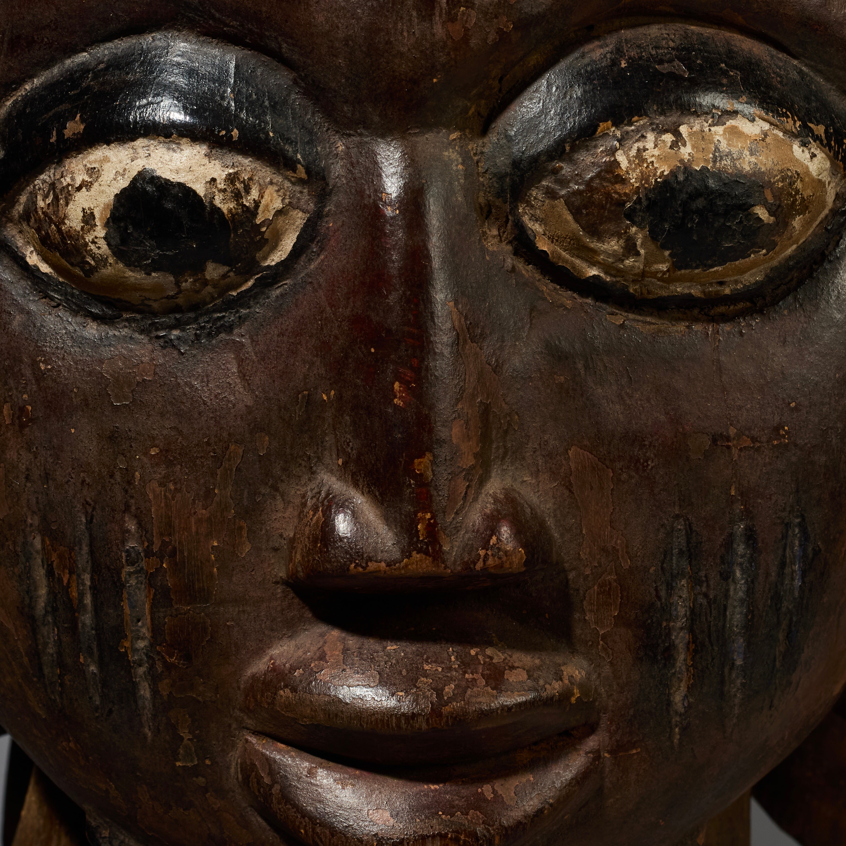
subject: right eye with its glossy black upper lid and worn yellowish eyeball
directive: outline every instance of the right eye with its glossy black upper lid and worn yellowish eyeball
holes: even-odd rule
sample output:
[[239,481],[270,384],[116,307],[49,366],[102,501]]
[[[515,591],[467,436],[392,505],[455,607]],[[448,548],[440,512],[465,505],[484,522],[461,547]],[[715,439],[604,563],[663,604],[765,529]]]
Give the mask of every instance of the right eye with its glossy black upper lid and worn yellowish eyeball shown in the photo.
[[492,125],[486,231],[580,294],[733,316],[838,243],[844,145],[842,96],[794,59],[718,30],[625,30]]

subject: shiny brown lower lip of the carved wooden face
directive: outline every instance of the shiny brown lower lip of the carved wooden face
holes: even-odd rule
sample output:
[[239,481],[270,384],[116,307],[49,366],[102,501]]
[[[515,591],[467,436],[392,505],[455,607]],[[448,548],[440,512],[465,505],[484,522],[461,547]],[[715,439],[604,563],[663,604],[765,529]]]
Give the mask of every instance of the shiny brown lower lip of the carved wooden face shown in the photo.
[[[578,735],[578,736],[577,736]],[[239,779],[256,810],[301,843],[519,843],[596,793],[596,733],[560,735],[472,766],[372,772],[244,733]],[[432,839],[436,838],[436,839]]]

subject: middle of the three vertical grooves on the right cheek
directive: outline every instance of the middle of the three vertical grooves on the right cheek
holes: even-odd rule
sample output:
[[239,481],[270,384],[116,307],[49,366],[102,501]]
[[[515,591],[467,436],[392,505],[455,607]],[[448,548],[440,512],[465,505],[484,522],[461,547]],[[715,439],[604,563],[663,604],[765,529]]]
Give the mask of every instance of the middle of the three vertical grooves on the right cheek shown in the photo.
[[755,530],[744,519],[732,529],[726,607],[726,708],[734,722],[742,704],[747,677],[751,597],[755,577]]

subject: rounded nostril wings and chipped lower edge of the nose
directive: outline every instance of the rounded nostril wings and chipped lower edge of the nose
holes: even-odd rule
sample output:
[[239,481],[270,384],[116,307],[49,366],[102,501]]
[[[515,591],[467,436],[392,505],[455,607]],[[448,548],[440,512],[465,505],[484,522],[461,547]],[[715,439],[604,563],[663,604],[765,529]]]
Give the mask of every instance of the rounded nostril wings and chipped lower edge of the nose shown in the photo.
[[509,488],[483,492],[455,540],[420,552],[371,497],[327,482],[304,508],[288,555],[288,582],[329,591],[467,589],[547,567],[552,536],[545,521]]

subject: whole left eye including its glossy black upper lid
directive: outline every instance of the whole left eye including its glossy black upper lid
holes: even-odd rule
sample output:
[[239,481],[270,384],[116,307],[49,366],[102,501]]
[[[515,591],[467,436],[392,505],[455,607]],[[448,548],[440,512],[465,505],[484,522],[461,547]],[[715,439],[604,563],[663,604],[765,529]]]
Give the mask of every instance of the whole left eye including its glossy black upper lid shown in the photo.
[[217,313],[289,278],[330,144],[258,53],[175,32],[102,44],[0,104],[0,243],[92,316]]

